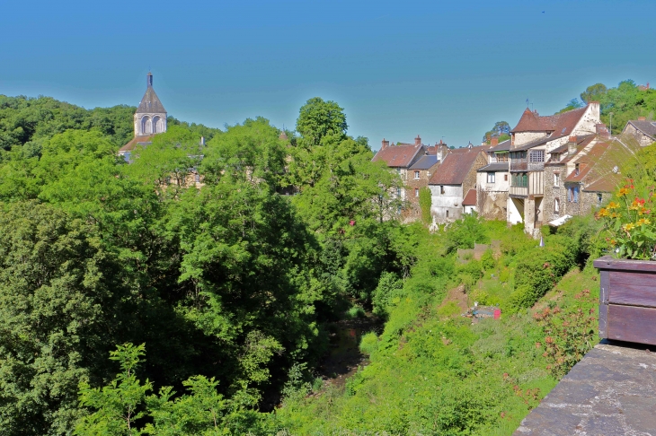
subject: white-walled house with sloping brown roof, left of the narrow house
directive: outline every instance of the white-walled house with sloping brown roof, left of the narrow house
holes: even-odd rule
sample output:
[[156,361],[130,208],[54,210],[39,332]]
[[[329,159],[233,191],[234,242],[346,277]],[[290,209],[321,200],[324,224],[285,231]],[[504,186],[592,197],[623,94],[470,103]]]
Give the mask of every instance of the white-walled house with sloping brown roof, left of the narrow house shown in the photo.
[[[476,170],[487,165],[485,150],[487,146],[451,150],[429,180],[431,206],[434,222],[451,222],[462,217],[465,212],[463,201],[468,196],[468,211],[475,209]],[[474,201],[472,201],[474,196]],[[474,207],[472,207],[474,206]]]

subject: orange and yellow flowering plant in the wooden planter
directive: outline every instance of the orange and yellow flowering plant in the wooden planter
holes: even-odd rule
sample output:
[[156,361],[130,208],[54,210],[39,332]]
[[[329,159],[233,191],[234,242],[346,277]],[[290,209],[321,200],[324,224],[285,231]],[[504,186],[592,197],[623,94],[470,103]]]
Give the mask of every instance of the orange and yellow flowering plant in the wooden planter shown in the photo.
[[607,242],[618,257],[656,260],[656,220],[652,217],[654,186],[634,186],[633,179],[621,187],[606,207],[595,214],[604,223]]

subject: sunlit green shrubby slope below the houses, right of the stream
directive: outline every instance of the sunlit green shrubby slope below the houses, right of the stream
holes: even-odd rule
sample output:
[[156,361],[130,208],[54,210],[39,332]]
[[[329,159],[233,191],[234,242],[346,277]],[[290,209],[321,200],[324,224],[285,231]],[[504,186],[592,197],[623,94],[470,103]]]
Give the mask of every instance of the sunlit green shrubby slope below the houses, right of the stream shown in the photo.
[[[474,217],[434,235],[406,228],[409,275],[383,275],[373,292],[387,322],[361,341],[371,362],[345,388],[307,396],[299,384],[281,424],[291,434],[511,434],[598,341],[597,273],[585,260],[598,254],[595,231],[590,217],[575,219],[540,248]],[[457,260],[455,249],[491,239],[497,257]],[[501,319],[473,324],[464,300],[499,304]]]

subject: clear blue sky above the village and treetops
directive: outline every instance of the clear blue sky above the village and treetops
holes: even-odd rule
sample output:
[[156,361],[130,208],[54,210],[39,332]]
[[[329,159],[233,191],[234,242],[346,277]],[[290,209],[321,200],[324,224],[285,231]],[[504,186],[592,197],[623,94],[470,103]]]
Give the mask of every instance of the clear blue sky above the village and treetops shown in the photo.
[[463,146],[527,99],[552,114],[593,83],[656,85],[655,17],[653,0],[5,1],[0,93],[136,106],[150,67],[185,121],[293,127],[320,96],[374,149]]

